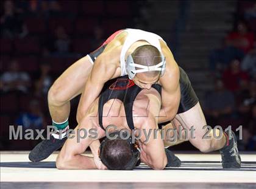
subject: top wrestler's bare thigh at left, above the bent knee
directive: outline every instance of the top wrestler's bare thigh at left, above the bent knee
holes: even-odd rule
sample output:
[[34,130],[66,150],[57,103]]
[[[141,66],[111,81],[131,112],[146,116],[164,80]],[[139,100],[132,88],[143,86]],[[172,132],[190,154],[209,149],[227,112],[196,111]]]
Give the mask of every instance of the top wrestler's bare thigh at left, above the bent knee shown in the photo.
[[83,91],[92,67],[93,64],[91,64],[88,57],[80,58],[80,60],[69,66],[68,69],[57,78],[52,85],[52,89],[57,91],[62,101],[71,100]]

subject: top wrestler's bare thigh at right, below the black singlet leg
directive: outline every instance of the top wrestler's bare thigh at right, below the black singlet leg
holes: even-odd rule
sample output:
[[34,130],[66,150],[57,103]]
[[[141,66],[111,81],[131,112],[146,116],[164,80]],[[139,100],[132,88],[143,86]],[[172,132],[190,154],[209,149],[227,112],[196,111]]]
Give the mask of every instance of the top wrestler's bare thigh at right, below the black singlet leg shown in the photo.
[[188,130],[193,127],[193,136],[191,136],[191,132],[188,132],[190,133],[188,134],[188,140],[190,140],[194,146],[202,143],[202,138],[207,132],[207,128],[203,129],[203,127],[207,125],[207,123],[205,121],[204,113],[202,112],[202,108],[199,102],[197,102],[196,105],[188,111],[177,114],[176,119],[179,120],[182,126]]

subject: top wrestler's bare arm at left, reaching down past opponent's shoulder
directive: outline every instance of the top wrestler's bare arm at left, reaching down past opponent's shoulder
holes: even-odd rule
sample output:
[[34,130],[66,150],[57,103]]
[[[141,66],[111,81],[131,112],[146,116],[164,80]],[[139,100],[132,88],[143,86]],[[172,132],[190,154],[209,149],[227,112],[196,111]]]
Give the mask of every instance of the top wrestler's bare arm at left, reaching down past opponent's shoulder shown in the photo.
[[119,46],[118,41],[111,41],[94,62],[77,108],[77,122],[84,117],[88,107],[99,96],[104,83],[120,76],[121,71],[118,66]]

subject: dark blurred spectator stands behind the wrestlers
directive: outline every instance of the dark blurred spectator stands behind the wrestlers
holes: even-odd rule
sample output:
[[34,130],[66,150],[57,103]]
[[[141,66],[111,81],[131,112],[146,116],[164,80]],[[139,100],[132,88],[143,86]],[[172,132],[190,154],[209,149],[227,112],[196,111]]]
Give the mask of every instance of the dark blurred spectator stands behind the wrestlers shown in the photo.
[[[157,33],[190,77],[210,126],[243,125],[241,151],[256,150],[255,1],[1,1],[1,150],[9,125],[51,125],[47,92],[68,66],[119,29]],[[71,101],[76,126],[79,97]],[[195,150],[189,142],[175,150]]]

